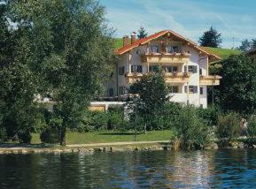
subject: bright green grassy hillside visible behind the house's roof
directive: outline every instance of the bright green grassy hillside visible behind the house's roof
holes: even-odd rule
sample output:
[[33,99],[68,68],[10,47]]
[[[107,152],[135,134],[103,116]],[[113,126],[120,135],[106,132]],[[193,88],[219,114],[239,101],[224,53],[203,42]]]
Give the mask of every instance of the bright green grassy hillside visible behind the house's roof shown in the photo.
[[[120,49],[122,47],[122,39],[121,38],[116,38],[115,39],[115,49]],[[208,47],[203,47],[206,49],[208,52],[213,53],[214,55],[221,57],[222,59],[225,59],[229,57],[230,55],[238,55],[241,54],[240,50],[237,49],[220,49],[220,48],[208,48]]]

